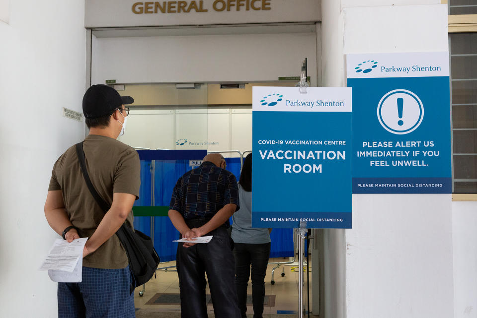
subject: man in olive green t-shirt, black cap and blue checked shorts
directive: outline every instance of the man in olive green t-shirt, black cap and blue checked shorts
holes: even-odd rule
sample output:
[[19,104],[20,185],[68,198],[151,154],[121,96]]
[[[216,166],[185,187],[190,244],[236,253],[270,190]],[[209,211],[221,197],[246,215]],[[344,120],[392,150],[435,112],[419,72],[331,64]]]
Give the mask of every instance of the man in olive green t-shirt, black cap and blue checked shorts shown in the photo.
[[58,317],[132,318],[134,293],[128,257],[116,231],[138,199],[138,153],[116,140],[124,133],[130,96],[112,87],[93,85],[84,94],[83,114],[89,134],[83,149],[91,183],[111,208],[104,213],[88,190],[76,147],[70,147],[53,166],[45,203],[50,226],[68,242],[88,237],[83,250],[82,281],[58,283]]

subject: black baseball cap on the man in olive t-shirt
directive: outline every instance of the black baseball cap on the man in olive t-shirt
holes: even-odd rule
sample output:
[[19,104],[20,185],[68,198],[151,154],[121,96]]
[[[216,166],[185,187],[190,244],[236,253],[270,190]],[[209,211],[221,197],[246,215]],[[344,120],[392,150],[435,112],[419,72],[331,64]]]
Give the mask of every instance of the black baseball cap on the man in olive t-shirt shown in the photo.
[[111,86],[104,84],[92,85],[83,96],[83,114],[87,119],[95,119],[110,114],[121,105],[134,103],[131,96],[121,96]]

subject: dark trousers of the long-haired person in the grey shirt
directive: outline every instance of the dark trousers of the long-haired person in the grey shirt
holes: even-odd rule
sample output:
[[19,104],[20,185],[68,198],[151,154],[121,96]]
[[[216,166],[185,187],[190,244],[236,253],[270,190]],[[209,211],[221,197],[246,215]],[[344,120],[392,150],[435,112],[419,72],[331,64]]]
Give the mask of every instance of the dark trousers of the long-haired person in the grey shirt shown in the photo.
[[265,274],[268,257],[270,256],[270,243],[235,243],[234,256],[240,315],[242,318],[247,317],[245,314],[247,312],[247,285],[251,264],[253,318],[262,318],[263,300],[265,298]]

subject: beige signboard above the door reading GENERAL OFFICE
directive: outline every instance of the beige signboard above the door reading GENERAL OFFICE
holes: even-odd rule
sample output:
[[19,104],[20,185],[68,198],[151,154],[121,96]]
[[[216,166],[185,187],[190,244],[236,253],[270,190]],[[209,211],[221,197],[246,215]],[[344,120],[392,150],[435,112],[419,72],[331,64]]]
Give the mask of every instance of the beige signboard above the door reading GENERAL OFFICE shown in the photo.
[[85,0],[85,27],[320,21],[318,0]]

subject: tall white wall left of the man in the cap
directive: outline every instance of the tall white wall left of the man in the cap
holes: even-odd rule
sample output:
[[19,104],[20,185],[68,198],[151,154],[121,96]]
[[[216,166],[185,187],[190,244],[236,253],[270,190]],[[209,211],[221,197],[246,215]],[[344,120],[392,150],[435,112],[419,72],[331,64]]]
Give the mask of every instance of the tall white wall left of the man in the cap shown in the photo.
[[84,137],[84,1],[11,0],[0,21],[1,317],[57,317],[56,283],[37,270],[58,236],[43,205],[53,163]]

